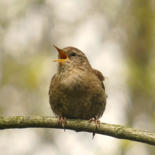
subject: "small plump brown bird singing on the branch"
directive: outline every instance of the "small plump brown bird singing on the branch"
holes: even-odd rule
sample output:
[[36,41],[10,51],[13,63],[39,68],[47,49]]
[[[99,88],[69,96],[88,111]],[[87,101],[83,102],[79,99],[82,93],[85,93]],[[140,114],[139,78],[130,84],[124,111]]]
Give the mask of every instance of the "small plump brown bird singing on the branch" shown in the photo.
[[51,80],[49,100],[59,119],[98,119],[106,105],[104,76],[93,69],[85,54],[77,48],[58,51],[57,73]]

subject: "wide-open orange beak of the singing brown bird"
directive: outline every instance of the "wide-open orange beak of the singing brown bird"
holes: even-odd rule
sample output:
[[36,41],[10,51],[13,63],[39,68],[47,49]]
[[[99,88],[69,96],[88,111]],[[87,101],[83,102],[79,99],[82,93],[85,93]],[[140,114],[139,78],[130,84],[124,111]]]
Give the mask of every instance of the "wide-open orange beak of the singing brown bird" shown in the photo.
[[59,53],[58,59],[53,60],[53,61],[56,61],[56,62],[64,62],[64,61],[68,60],[67,54],[62,49],[58,48],[55,45],[53,45],[53,46],[56,48],[56,50]]

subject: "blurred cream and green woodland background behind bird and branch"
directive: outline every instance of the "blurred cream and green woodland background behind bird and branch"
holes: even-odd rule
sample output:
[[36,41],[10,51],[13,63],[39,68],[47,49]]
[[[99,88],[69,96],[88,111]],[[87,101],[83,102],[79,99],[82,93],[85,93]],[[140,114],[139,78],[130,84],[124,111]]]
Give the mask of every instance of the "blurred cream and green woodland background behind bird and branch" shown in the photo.
[[[48,89],[60,48],[106,77],[101,121],[155,131],[154,0],[0,0],[0,115],[53,116]],[[0,131],[4,155],[154,155],[155,148],[58,129]]]

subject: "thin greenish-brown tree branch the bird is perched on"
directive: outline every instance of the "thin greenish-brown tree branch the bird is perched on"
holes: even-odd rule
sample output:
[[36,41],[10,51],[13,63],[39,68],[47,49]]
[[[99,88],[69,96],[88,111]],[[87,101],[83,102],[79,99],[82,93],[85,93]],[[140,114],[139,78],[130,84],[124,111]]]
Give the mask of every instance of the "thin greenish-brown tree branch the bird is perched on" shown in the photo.
[[[61,128],[58,119],[55,117],[44,116],[13,116],[0,117],[0,129],[12,128]],[[95,123],[87,120],[68,119],[65,129],[94,132],[97,134],[108,135],[119,139],[128,139],[155,145],[155,133],[150,133],[138,129],[128,128],[121,125],[100,123],[97,127]]]

